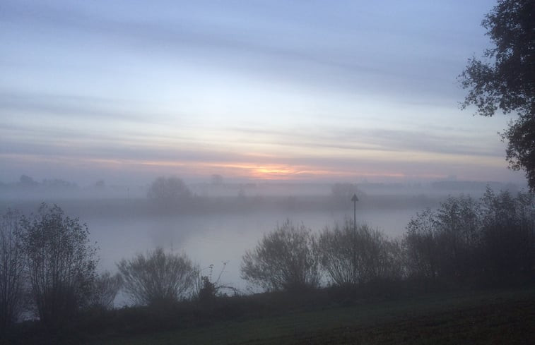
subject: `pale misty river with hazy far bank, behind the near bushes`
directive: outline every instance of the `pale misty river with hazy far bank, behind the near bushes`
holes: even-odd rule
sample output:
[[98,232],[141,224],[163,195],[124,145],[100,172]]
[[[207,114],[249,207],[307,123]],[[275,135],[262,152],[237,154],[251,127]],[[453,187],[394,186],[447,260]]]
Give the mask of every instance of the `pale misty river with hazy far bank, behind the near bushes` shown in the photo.
[[[99,248],[101,271],[117,272],[120,260],[161,247],[186,253],[204,275],[209,274],[208,267],[213,265],[216,278],[224,267],[221,283],[246,292],[254,290],[240,278],[242,255],[254,249],[264,234],[286,219],[294,224],[302,223],[314,232],[343,224],[345,219],[353,219],[351,195],[355,191],[359,195],[357,222],[377,228],[391,238],[401,238],[417,212],[437,207],[447,195],[469,193],[478,198],[486,185],[459,182],[432,186],[357,187],[351,183],[211,186],[206,183],[189,188],[194,196],[172,210],[148,199],[146,189],[141,187],[81,189],[71,190],[72,193],[65,190],[61,193],[15,190],[17,193],[13,193],[11,190],[3,194],[0,206],[3,212],[14,208],[30,214],[40,202],[56,203],[70,217],[79,217],[88,226],[90,240]],[[124,305],[128,300],[119,296],[116,303]]]

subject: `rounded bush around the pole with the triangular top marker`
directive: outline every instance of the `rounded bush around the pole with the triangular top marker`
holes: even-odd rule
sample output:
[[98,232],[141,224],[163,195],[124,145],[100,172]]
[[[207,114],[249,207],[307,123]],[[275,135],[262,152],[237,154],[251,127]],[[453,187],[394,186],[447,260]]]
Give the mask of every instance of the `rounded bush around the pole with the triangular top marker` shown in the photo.
[[326,228],[317,241],[317,255],[332,282],[337,285],[357,285],[379,279],[396,279],[401,252],[395,241],[367,224],[353,227],[346,220],[340,227]]

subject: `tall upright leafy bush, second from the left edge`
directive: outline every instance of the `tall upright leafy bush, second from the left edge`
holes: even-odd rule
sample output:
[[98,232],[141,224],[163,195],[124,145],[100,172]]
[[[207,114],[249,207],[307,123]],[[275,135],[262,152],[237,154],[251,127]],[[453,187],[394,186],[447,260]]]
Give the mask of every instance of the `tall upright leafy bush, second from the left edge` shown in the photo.
[[57,326],[88,304],[95,280],[96,248],[87,226],[43,203],[32,219],[23,217],[20,238],[31,294],[42,322]]

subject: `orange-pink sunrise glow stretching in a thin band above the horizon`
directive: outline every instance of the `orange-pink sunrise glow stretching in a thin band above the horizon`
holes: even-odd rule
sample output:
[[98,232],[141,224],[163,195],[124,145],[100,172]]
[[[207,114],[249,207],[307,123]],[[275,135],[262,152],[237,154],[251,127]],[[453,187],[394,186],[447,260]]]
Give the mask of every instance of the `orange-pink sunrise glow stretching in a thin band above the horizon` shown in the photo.
[[[69,157],[57,155],[54,157],[43,157],[42,155],[0,155],[10,157],[13,164],[17,162],[27,164],[28,162],[40,162],[56,164],[63,167],[76,169],[100,169],[102,171],[117,171],[131,169],[143,175],[152,176],[176,175],[188,179],[192,177],[211,176],[221,174],[225,178],[240,178],[247,180],[264,181],[356,181],[367,179],[369,181],[404,181],[418,178],[441,179],[447,178],[447,174],[441,174],[441,167],[436,167],[428,171],[399,171],[396,164],[392,164],[389,171],[381,170],[368,164],[364,169],[351,169],[348,167],[326,167],[324,165],[298,165],[288,163],[268,163],[261,164],[254,162],[255,158],[250,157],[253,162],[201,162],[191,160],[148,160],[148,159],[110,159],[93,157]],[[474,164],[474,169],[486,167],[485,164]],[[479,178],[474,178],[474,176]],[[479,175],[457,176],[474,181],[483,180]]]

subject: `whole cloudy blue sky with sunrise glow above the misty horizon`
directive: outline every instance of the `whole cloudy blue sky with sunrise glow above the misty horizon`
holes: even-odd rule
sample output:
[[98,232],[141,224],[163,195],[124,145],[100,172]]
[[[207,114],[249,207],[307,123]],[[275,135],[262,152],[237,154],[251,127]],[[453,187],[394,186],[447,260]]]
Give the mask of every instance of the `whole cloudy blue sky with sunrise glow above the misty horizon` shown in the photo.
[[0,4],[0,181],[524,183],[459,109],[495,1]]

